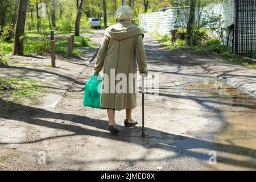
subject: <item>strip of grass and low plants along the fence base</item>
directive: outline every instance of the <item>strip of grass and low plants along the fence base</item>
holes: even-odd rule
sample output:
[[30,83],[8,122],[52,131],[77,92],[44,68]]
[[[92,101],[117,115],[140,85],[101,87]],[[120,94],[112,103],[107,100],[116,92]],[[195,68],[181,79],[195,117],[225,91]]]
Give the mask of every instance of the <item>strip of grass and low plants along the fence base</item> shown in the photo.
[[168,35],[159,35],[158,33],[152,33],[156,39],[159,40],[161,46],[166,49],[182,49],[191,53],[203,54],[212,56],[213,59],[218,61],[228,61],[230,63],[240,64],[244,67],[256,69],[256,62],[250,61],[242,56],[236,56],[230,52],[230,50],[222,45],[218,40],[211,39],[205,42],[204,46],[185,46],[185,41],[177,39],[173,44],[170,41]]

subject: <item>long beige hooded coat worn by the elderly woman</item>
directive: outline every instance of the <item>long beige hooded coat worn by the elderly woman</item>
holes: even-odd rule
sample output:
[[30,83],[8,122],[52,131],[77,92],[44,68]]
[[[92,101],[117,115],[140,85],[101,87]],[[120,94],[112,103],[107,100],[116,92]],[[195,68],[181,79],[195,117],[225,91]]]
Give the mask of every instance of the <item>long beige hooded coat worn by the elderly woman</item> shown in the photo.
[[[122,110],[133,109],[137,106],[136,78],[129,80],[128,76],[129,73],[137,73],[137,64],[139,72],[147,75],[143,37],[144,35],[141,29],[128,22],[118,22],[106,28],[94,68],[94,74],[99,73],[103,69],[103,73],[108,75],[109,78],[108,87],[105,87],[107,85],[107,79],[105,78],[106,76],[104,77],[105,74],[103,74],[101,107]],[[112,72],[114,70],[114,75],[113,73],[110,75],[110,69],[112,69]],[[110,93],[110,80],[118,73],[124,73],[127,79],[122,80],[122,78],[119,78],[119,80],[115,80],[114,78],[113,83],[116,86],[119,81],[126,81],[127,84],[124,87],[126,93],[117,93],[115,89]],[[133,86],[132,93],[132,89],[130,88],[129,90],[129,86]],[[108,89],[104,90],[103,88]],[[122,86],[120,88],[122,88]],[[103,90],[104,92],[106,92],[106,90],[109,92],[104,93]]]

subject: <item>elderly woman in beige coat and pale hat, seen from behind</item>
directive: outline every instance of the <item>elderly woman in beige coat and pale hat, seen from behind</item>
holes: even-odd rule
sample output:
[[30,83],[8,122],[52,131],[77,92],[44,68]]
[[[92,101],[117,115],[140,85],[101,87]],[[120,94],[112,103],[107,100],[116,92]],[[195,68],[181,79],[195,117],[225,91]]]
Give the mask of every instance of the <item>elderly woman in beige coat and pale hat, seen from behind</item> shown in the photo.
[[[137,121],[131,118],[131,111],[137,106],[137,64],[139,73],[147,76],[144,35],[139,27],[131,24],[132,16],[133,10],[129,6],[121,6],[117,9],[115,18],[118,22],[106,28],[94,68],[94,75],[103,69],[101,107],[108,111],[109,131],[112,134],[118,132],[115,110],[126,109],[125,126],[137,124]],[[126,79],[123,80],[123,77],[118,79],[118,75],[125,75]],[[135,77],[130,79],[130,75]],[[117,92],[118,80],[125,82],[121,88],[125,92]],[[109,90],[114,88],[114,92],[108,92],[109,90],[104,88],[110,88]]]

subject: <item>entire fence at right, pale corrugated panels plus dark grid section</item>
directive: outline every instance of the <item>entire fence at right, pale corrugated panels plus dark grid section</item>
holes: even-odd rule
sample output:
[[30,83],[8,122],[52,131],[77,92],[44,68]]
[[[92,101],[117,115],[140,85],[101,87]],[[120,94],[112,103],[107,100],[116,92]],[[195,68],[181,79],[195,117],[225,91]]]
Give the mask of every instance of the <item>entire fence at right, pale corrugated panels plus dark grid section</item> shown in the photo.
[[[172,28],[187,26],[185,14],[188,11],[172,7],[164,12],[139,14],[140,26],[144,31],[171,35]],[[256,60],[256,0],[224,0],[212,7],[204,7],[200,20],[218,14],[222,15],[225,46],[236,55]]]

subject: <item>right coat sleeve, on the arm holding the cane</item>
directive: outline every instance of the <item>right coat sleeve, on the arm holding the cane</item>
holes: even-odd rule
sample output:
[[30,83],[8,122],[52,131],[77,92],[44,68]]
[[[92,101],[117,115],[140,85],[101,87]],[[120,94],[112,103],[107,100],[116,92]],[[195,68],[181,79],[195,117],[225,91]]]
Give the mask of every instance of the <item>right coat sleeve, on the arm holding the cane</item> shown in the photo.
[[135,54],[137,57],[139,73],[145,73],[145,75],[147,76],[147,60],[146,60],[146,53],[144,50],[143,38],[141,34],[136,39]]

